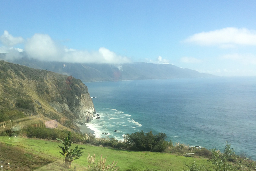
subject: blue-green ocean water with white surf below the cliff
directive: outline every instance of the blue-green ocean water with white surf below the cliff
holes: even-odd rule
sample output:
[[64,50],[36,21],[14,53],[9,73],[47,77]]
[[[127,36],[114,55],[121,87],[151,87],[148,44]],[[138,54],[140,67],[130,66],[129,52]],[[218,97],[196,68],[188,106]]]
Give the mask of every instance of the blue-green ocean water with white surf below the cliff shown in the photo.
[[[256,77],[84,82],[100,120],[95,136],[123,139],[136,131],[163,132],[172,142],[256,159]],[[114,130],[118,130],[114,132]]]

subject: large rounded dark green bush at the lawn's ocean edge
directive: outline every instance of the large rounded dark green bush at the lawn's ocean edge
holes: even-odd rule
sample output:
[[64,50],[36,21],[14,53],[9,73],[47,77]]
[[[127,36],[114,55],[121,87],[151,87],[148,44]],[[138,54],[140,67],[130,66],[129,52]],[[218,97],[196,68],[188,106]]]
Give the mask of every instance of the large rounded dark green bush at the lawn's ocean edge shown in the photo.
[[164,152],[169,146],[172,146],[172,141],[165,141],[166,138],[166,134],[158,133],[153,135],[152,131],[125,134],[125,141],[128,147],[138,151]]

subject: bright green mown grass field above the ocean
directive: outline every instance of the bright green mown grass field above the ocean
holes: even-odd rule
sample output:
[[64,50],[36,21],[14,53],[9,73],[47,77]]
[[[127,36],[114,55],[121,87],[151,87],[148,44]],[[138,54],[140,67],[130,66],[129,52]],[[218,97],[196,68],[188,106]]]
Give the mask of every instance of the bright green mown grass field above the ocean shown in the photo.
[[[65,170],[59,167],[63,158],[59,153],[60,148],[58,147],[61,145],[61,143],[57,141],[55,142],[40,139],[0,136],[0,142],[6,146],[21,148],[26,153],[33,153],[34,155],[40,156],[49,161],[55,161],[50,165],[44,166],[38,170]],[[190,165],[194,160],[196,160],[196,163],[199,165],[210,165],[210,163],[207,162],[207,159],[178,156],[171,153],[134,152],[80,144],[73,144],[72,147],[75,148],[76,145],[78,145],[79,148],[84,148],[82,149],[82,151],[84,151],[84,155],[80,159],[74,160],[72,162],[72,166],[76,166],[77,170],[85,170],[82,165],[88,165],[86,158],[88,156],[88,152],[90,152],[90,155],[95,153],[96,159],[100,159],[100,155],[102,154],[103,157],[107,157],[107,162],[109,164],[111,164],[113,160],[118,161],[117,166],[120,168],[120,170],[126,170],[130,168],[154,168],[156,170],[164,171],[169,169],[173,169],[174,171],[182,171],[183,162],[186,162]],[[0,152],[1,151],[2,150],[0,150]],[[23,170],[21,167],[22,166],[20,166],[20,170]]]

